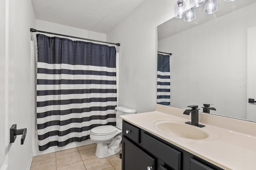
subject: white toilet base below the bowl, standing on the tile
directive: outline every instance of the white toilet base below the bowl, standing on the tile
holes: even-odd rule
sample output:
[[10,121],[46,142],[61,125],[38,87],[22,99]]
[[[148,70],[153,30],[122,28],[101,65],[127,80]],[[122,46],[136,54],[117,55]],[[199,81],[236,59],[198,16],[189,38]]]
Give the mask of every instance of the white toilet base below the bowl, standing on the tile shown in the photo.
[[95,156],[97,158],[106,158],[120,152],[120,143],[122,141],[122,136],[117,135],[114,137],[112,143],[97,143]]

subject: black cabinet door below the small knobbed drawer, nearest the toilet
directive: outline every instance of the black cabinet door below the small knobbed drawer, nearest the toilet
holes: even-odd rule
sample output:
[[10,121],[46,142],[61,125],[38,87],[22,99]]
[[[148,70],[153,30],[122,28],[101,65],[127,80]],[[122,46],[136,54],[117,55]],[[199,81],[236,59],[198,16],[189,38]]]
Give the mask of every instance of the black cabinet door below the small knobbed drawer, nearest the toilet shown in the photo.
[[122,170],[155,170],[155,160],[122,137]]

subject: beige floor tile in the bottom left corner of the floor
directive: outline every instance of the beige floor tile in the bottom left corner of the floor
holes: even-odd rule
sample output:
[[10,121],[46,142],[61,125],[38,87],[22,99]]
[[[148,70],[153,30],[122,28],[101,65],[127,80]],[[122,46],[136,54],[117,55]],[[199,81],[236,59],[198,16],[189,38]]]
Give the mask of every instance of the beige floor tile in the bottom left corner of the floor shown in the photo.
[[48,158],[40,158],[40,160],[32,161],[30,170],[52,170],[56,168],[56,158],[51,156]]

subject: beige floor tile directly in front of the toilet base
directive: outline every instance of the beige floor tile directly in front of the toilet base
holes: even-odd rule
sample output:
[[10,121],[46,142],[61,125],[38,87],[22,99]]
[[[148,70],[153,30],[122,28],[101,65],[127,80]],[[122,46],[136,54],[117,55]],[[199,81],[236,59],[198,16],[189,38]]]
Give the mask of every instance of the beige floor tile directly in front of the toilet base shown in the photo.
[[112,167],[107,158],[92,158],[84,160],[84,165],[86,170],[103,170]]

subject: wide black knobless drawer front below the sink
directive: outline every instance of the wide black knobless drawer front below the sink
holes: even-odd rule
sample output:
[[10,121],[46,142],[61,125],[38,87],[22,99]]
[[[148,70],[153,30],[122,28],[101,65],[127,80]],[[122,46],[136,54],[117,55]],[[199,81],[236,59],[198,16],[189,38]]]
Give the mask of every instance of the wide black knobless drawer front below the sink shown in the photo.
[[148,150],[148,152],[157,155],[158,158],[160,158],[174,170],[180,170],[181,153],[178,150],[165,145],[146,133],[142,134],[142,146]]

